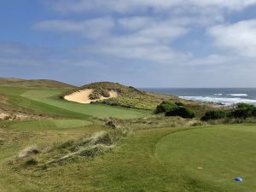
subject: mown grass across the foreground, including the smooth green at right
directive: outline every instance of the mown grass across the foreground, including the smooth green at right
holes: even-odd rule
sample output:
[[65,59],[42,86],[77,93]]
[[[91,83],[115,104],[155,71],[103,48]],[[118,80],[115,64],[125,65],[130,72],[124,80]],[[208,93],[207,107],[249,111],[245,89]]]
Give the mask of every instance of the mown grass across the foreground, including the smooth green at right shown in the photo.
[[[254,129],[256,125],[220,125],[135,131],[93,160],[37,171],[6,167],[0,184],[8,172],[4,188],[13,191],[253,192]],[[234,177],[244,182],[236,183]]]

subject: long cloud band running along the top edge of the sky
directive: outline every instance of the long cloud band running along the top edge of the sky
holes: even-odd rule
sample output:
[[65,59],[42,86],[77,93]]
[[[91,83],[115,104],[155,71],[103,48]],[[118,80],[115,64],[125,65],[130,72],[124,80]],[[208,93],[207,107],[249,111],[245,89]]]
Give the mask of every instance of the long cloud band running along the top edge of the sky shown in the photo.
[[173,8],[228,9],[241,10],[256,4],[255,0],[51,0],[50,7],[61,13],[76,13],[84,11],[103,11],[128,13],[146,11],[170,10]]

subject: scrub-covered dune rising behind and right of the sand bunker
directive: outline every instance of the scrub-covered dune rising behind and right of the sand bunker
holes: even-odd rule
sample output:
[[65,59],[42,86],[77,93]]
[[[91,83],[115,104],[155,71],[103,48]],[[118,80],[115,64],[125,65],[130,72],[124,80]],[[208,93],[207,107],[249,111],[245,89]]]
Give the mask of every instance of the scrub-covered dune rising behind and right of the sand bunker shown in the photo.
[[111,106],[154,110],[156,106],[163,101],[183,102],[189,107],[194,108],[195,111],[198,113],[198,116],[201,116],[208,108],[212,108],[210,105],[200,102],[189,102],[180,99],[177,96],[167,96],[150,93],[142,90],[137,90],[136,88],[131,86],[125,86],[123,84],[111,82],[97,82],[93,84],[86,84],[74,90],[68,90],[66,93],[64,93],[64,95],[62,95],[62,97],[69,95],[73,92],[85,89],[103,89],[117,91],[119,93],[118,97],[98,101],[98,103],[105,103]]

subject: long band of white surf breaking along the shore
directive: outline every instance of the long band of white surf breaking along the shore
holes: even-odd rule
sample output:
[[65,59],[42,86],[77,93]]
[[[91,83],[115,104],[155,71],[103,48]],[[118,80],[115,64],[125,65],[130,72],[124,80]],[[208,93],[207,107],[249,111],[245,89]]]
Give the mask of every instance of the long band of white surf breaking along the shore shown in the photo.
[[256,105],[256,100],[246,98],[224,98],[224,97],[210,97],[210,96],[179,96],[186,100],[192,100],[197,102],[215,102],[223,103],[224,105],[230,106],[239,102],[251,103]]

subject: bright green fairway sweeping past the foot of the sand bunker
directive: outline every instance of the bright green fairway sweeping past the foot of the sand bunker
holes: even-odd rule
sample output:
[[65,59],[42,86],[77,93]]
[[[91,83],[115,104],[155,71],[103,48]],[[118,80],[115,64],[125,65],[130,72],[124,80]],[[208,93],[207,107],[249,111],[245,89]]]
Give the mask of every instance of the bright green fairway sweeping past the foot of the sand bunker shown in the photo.
[[41,113],[67,117],[117,117],[133,119],[143,117],[151,111],[112,107],[102,104],[80,104],[61,100],[58,96],[63,89],[0,87],[0,92],[9,96],[9,102]]

